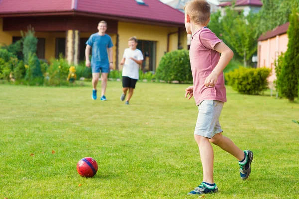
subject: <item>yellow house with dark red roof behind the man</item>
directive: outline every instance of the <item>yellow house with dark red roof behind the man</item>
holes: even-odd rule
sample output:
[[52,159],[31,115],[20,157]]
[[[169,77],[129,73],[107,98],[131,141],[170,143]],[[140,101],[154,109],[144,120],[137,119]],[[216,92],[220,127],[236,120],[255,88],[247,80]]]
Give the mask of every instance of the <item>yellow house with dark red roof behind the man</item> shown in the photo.
[[70,63],[85,60],[85,42],[101,20],[112,37],[114,67],[136,36],[146,62],[155,71],[164,53],[187,49],[184,14],[158,0],[1,0],[0,43],[9,45],[31,25],[38,38],[37,56],[49,60],[62,53]]

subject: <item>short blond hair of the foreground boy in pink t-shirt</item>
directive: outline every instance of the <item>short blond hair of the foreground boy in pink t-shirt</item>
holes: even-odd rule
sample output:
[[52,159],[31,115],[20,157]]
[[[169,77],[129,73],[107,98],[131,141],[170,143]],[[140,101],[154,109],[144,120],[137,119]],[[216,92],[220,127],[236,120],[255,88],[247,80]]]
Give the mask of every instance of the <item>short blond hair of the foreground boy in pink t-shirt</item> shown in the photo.
[[206,24],[211,15],[211,5],[206,0],[191,0],[184,7],[185,13],[195,24]]

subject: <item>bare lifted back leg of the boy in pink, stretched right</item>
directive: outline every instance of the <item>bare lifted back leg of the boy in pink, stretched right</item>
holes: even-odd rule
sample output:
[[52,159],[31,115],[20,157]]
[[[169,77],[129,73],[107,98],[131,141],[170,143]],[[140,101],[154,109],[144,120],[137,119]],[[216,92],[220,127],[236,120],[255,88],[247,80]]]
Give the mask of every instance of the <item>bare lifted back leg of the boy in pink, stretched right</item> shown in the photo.
[[239,149],[231,139],[222,135],[222,133],[217,133],[210,139],[210,142],[219,146],[224,151],[235,156],[239,161],[244,159],[244,151]]

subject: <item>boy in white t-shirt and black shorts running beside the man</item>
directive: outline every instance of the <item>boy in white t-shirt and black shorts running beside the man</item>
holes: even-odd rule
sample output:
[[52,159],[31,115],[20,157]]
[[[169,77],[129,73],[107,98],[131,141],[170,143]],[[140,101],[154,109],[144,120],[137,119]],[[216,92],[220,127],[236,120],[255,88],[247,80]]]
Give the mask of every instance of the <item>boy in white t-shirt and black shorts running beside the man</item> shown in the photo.
[[129,105],[129,100],[133,95],[133,90],[135,89],[135,84],[139,79],[139,65],[142,64],[143,55],[142,52],[136,48],[137,39],[136,37],[131,37],[128,40],[129,48],[124,51],[123,59],[121,65],[123,66],[123,93],[121,95],[121,101],[125,100],[128,92],[126,105]]

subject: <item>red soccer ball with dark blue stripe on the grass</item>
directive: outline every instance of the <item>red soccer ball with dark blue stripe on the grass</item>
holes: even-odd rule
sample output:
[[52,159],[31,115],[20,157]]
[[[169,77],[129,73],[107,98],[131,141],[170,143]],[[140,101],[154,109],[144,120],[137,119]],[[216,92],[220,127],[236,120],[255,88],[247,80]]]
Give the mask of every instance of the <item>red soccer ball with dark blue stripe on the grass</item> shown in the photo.
[[77,164],[77,172],[80,176],[93,177],[98,171],[98,164],[90,157],[82,158]]

